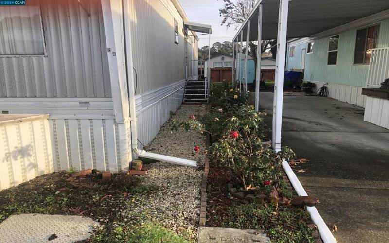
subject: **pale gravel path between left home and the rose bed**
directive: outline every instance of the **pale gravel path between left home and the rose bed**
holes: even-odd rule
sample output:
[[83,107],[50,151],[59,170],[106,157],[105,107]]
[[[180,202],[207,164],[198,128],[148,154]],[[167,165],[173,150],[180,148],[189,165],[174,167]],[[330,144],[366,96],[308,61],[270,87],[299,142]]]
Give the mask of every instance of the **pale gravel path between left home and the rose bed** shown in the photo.
[[[182,105],[172,119],[187,120],[190,115],[207,112],[205,105]],[[195,145],[201,147],[195,152]],[[188,240],[195,241],[200,215],[200,188],[205,160],[205,136],[196,132],[171,131],[168,121],[147,150],[167,156],[197,161],[197,168],[165,162],[152,164],[145,176],[146,184],[158,185],[155,193],[141,196],[128,211],[133,221],[159,222]],[[133,207],[134,206],[134,207]]]

